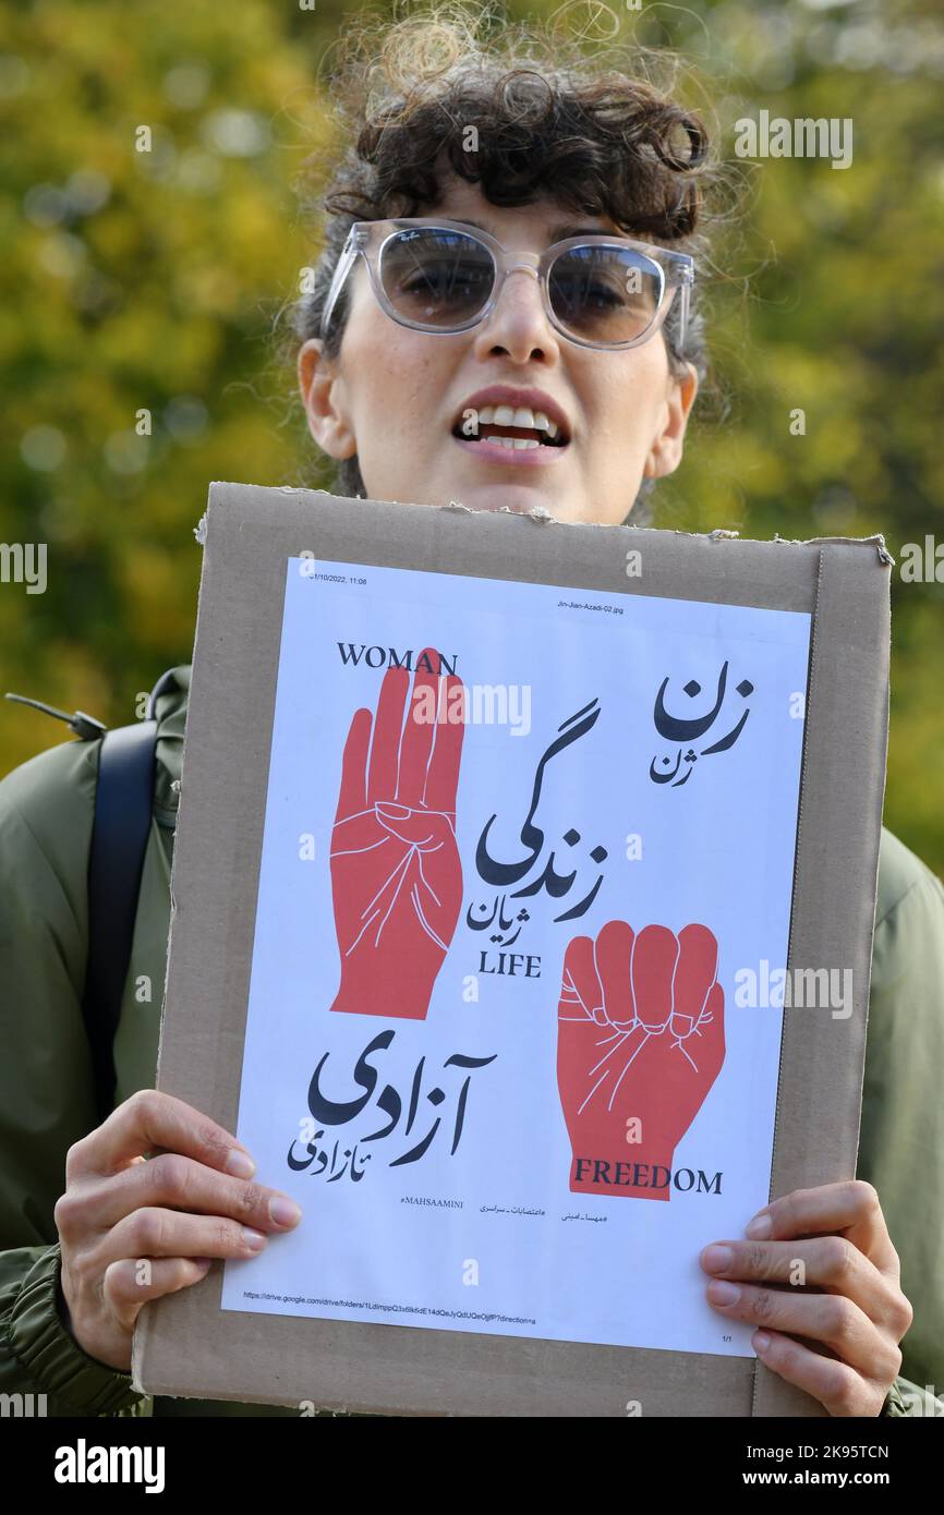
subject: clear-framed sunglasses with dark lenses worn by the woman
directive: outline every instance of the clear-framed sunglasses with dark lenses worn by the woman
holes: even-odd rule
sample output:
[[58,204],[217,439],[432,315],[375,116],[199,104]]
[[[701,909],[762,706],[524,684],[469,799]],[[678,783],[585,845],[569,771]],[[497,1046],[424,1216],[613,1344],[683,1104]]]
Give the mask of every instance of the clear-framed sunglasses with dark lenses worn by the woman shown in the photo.
[[638,347],[662,326],[680,291],[679,348],[688,326],[694,259],[629,238],[568,236],[542,253],[508,251],[485,230],[441,217],[356,221],[332,279],[321,336],[362,255],[380,309],[400,326],[447,336],[488,320],[505,280],[532,274],[550,324],[580,347]]

